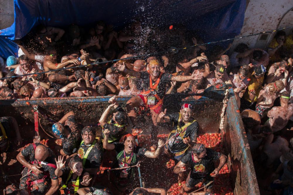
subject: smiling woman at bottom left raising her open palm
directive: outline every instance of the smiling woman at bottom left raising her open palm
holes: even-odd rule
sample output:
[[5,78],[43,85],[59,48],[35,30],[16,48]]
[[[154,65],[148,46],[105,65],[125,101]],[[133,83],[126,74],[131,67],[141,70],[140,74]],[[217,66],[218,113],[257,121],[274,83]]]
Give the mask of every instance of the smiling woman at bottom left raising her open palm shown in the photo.
[[[82,186],[88,186],[92,180],[88,172],[82,167],[82,159],[74,156],[69,161],[69,166],[64,167],[64,156],[55,158],[57,169],[55,175],[62,178],[60,194],[76,194],[77,190]],[[62,168],[63,167],[63,168]]]

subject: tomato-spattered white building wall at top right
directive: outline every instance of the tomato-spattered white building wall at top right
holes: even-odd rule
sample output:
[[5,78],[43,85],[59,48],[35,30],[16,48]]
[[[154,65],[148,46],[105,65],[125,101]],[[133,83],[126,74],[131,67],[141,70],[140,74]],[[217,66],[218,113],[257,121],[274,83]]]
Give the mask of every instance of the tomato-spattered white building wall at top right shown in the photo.
[[[239,37],[293,26],[292,9],[292,0],[250,0],[245,11],[244,23]],[[292,30],[286,30],[286,33],[292,34]],[[259,40],[261,35],[236,39],[230,52],[239,43],[245,43],[250,48],[266,48],[274,35],[275,33],[268,34],[268,38],[264,41]]]

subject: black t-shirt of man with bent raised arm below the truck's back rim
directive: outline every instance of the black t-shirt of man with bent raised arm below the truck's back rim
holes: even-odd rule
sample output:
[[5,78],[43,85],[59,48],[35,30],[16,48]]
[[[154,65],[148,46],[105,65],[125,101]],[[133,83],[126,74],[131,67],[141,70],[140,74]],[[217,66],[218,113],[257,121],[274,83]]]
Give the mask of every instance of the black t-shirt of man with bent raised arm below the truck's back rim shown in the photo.
[[[118,106],[116,109],[116,112],[120,111],[120,112],[125,112],[123,110],[123,108],[121,108],[121,106]],[[110,134],[108,136],[108,142],[109,143],[112,143],[112,142],[115,142],[115,141],[119,141],[123,135],[123,132],[126,130],[125,126],[123,127],[119,127],[119,126],[115,126],[114,124],[112,123],[106,123],[104,126],[103,126],[103,129],[108,129],[110,131]],[[104,139],[104,133],[102,132],[102,137]]]

